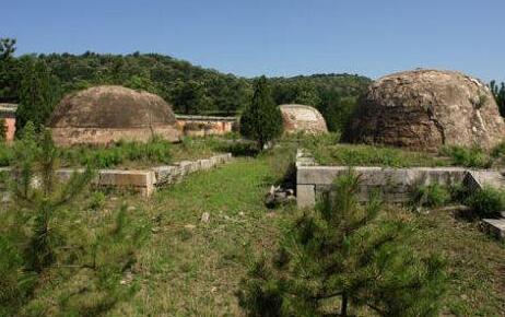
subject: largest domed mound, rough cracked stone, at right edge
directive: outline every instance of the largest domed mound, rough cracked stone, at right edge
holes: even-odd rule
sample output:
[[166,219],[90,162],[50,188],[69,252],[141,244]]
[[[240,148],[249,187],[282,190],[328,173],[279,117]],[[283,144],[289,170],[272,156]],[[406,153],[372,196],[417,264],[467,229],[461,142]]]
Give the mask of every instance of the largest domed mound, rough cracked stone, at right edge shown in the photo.
[[496,102],[479,80],[455,71],[414,70],[377,80],[343,137],[436,151],[443,144],[489,149],[504,132]]

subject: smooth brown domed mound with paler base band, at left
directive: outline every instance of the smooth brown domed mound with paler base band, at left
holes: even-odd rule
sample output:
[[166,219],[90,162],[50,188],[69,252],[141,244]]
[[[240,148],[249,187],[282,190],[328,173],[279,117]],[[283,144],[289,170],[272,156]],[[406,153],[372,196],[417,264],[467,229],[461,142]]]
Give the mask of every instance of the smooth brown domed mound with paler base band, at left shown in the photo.
[[153,134],[176,141],[175,125],[171,106],[160,96],[113,85],[67,95],[49,121],[61,145],[148,141]]

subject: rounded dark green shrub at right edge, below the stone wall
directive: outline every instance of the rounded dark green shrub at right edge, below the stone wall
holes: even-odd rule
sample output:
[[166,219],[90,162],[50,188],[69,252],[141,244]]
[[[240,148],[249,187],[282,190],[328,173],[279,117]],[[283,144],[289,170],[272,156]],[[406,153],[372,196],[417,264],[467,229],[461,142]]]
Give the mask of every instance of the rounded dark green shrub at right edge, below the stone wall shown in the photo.
[[473,191],[465,203],[479,218],[498,218],[505,210],[505,191],[493,187],[484,187]]

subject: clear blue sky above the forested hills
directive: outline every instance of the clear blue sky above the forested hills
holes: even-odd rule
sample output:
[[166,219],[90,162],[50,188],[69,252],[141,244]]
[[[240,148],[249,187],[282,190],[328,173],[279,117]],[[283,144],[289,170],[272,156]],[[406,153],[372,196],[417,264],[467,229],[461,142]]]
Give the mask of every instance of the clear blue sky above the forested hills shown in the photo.
[[505,81],[505,0],[0,0],[25,52],[160,52],[238,75],[421,68]]

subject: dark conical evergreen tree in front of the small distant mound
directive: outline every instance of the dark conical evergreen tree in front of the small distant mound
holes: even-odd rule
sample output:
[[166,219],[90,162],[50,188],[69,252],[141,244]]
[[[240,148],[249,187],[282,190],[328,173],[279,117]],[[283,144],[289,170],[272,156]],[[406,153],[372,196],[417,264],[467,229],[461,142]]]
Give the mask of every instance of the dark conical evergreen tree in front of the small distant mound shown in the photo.
[[281,136],[282,114],[275,105],[267,78],[261,77],[255,82],[251,103],[240,117],[240,134],[258,143],[260,150]]

